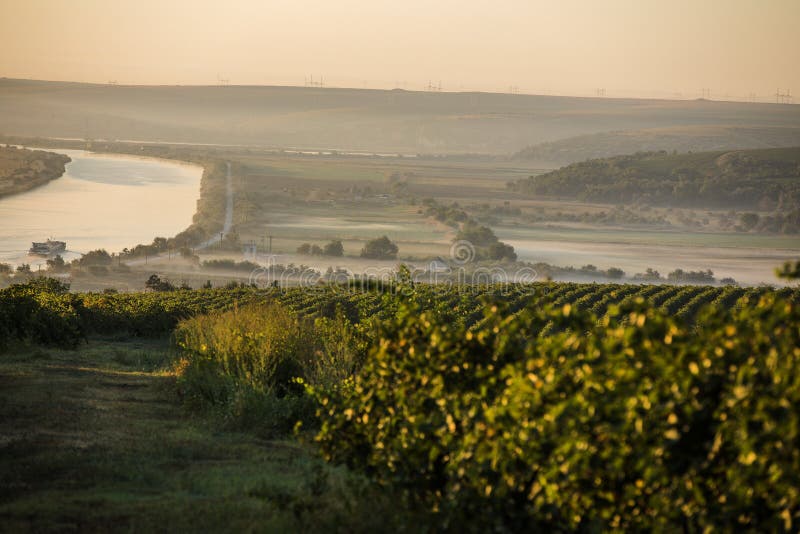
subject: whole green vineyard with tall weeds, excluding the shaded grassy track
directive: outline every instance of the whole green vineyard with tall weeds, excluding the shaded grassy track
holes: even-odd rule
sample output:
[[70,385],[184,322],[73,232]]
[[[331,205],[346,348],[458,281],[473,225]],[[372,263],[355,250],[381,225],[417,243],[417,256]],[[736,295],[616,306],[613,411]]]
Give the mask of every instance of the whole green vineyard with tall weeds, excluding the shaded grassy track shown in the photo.
[[400,528],[791,531],[798,303],[766,287],[71,294],[44,279],[0,292],[0,339],[171,334],[187,406],[266,437],[301,429],[392,492]]

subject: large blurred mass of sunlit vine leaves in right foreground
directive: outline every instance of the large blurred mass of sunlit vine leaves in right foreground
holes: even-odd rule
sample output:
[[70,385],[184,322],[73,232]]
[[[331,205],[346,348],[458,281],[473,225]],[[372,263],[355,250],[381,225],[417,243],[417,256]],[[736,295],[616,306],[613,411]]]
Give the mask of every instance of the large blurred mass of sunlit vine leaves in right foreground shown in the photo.
[[791,530],[800,309],[701,322],[640,300],[599,322],[494,307],[470,330],[401,306],[353,386],[315,393],[317,441],[443,528]]

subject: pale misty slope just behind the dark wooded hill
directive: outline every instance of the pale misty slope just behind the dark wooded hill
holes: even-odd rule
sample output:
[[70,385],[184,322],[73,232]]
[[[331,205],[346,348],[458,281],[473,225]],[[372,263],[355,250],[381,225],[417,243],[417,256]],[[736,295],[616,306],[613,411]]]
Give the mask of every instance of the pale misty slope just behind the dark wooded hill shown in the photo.
[[793,146],[800,146],[800,126],[676,126],[570,137],[530,146],[515,154],[515,157],[556,167],[634,152],[700,152]]

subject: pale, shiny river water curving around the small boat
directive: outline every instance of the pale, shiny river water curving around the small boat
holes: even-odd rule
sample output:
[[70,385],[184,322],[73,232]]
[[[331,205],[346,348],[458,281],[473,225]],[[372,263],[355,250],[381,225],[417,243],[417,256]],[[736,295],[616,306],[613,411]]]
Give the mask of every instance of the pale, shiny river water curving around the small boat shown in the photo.
[[135,156],[47,149],[72,162],[61,178],[0,199],[0,262],[30,263],[32,241],[67,242],[64,259],[89,250],[117,252],[189,226],[200,195],[202,168]]

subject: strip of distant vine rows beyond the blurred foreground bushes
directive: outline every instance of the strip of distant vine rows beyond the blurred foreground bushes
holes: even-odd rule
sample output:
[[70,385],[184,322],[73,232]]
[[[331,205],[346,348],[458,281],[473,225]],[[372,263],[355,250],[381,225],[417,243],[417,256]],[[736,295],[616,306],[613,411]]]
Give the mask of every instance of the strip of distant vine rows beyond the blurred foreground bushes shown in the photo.
[[[198,289],[148,293],[71,294],[41,283],[12,286],[0,291],[0,317],[12,328],[9,335],[25,338],[26,316],[55,314],[64,322],[65,334],[79,332],[128,332],[139,336],[165,335],[182,319],[246,304],[276,301],[310,318],[331,316],[343,310],[352,322],[381,321],[392,317],[401,302],[413,301],[421,309],[454,324],[475,327],[483,320],[486,302],[502,301],[506,313],[548,305],[570,304],[601,319],[612,305],[641,297],[648,304],[681,320],[693,321],[705,305],[735,308],[775,294],[797,302],[800,291],[792,288],[739,288],[673,285],[620,285],[579,283],[498,284],[488,286],[387,284],[377,287],[320,285],[312,287],[255,289]],[[19,308],[21,311],[15,312]],[[24,308],[24,310],[23,310]],[[54,320],[54,319],[49,319]],[[58,342],[56,323],[48,335]],[[73,345],[74,346],[74,345]]]

